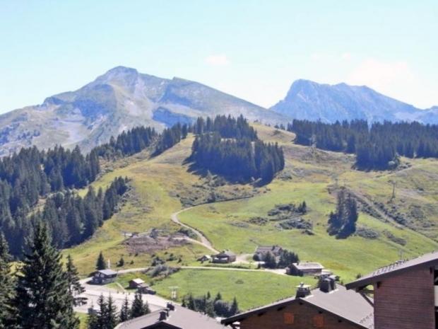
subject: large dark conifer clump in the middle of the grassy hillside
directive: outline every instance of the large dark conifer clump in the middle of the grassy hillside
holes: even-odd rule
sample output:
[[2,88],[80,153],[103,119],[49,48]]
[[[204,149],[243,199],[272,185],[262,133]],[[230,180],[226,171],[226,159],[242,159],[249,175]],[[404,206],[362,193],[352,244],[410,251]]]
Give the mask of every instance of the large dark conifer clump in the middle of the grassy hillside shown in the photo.
[[278,144],[265,144],[244,117],[218,116],[202,118],[193,128],[197,134],[190,159],[196,168],[223,175],[232,180],[273,180],[285,166],[283,149]]

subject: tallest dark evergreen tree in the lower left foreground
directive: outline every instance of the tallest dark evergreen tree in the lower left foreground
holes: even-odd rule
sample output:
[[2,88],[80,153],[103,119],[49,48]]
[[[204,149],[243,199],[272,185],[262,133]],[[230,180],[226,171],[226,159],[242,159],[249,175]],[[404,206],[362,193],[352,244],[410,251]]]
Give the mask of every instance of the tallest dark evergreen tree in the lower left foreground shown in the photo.
[[45,224],[37,223],[28,249],[17,274],[14,304],[18,328],[78,328],[61,255],[51,245]]

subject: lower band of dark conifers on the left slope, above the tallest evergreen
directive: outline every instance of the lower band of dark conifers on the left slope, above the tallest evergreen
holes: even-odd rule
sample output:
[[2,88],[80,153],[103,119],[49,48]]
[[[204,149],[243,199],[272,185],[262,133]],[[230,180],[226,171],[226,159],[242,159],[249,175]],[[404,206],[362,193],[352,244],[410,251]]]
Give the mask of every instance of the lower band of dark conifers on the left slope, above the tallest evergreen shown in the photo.
[[85,241],[93,235],[103,221],[112,217],[119,207],[122,195],[128,190],[126,178],[115,178],[105,192],[88,187],[84,197],[71,190],[47,197],[44,207],[30,217],[16,216],[15,221],[3,221],[1,230],[11,245],[12,255],[19,257],[25,239],[32,233],[32,223],[47,224],[54,246],[67,248]]

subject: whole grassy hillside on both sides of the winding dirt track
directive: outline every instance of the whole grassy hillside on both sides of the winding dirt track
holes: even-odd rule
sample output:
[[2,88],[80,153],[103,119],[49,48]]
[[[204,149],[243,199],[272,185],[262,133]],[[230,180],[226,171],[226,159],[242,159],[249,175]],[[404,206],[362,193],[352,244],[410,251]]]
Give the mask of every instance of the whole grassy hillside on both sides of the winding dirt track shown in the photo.
[[[280,244],[299,253],[302,260],[322,262],[345,282],[357,273],[364,274],[398,260],[400,251],[404,258],[409,258],[437,249],[438,209],[435,204],[438,187],[433,184],[438,178],[437,161],[403,159],[408,166],[401,171],[355,171],[352,156],[297,146],[292,144],[294,135],[289,132],[262,125],[255,127],[261,139],[278,142],[285,150],[285,170],[265,187],[223,185],[220,180],[191,173],[185,160],[191,152],[193,137],[155,158],[150,158],[144,151],[116,163],[107,163],[106,173],[95,182],[96,187],[105,186],[122,175],[131,178],[133,188],[121,211],[106,221],[93,238],[65,251],[71,253],[81,274],[93,270],[100,250],[112,264],[123,255],[125,268],[150,265],[150,254],[130,251],[124,232],[143,233],[155,228],[161,236],[169,236],[179,230],[170,215],[189,206],[195,207],[179,214],[179,219],[203,232],[217,249],[252,253],[257,245]],[[396,182],[396,198],[391,202],[390,180]],[[329,212],[336,207],[336,190],[341,186],[361,200],[358,226],[374,232],[377,237],[350,236],[336,240],[326,233]],[[203,204],[208,200],[238,197],[246,198]],[[267,217],[276,204],[303,200],[309,208],[304,219],[312,222],[313,235],[297,229],[278,229],[276,222],[269,221],[266,225],[249,222],[251,217]],[[171,265],[194,265],[196,257],[204,253],[211,252],[197,244],[155,252],[160,258],[166,259],[173,254],[182,259],[170,261]],[[184,282],[183,276],[187,272],[184,270],[163,280],[163,287],[183,287],[183,283],[177,281]],[[251,275],[251,272],[247,274]],[[208,277],[212,276],[213,280],[215,275],[214,272],[202,272],[202,278],[196,280],[196,289],[199,289],[196,292],[208,291],[211,285]],[[227,277],[234,273],[224,271],[220,275]],[[184,287],[187,292],[195,289],[187,284]],[[247,285],[243,284],[239,289],[247,289]],[[164,288],[161,293],[165,294]],[[265,297],[266,300],[277,298]],[[254,305],[254,301],[249,304]]]

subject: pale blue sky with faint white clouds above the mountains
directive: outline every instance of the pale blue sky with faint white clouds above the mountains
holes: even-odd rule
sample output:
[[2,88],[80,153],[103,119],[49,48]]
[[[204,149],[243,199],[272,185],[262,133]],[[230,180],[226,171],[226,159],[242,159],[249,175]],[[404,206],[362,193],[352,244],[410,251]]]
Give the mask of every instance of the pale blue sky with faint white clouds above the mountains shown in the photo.
[[0,0],[0,112],[112,67],[270,107],[296,79],[438,105],[438,1]]

